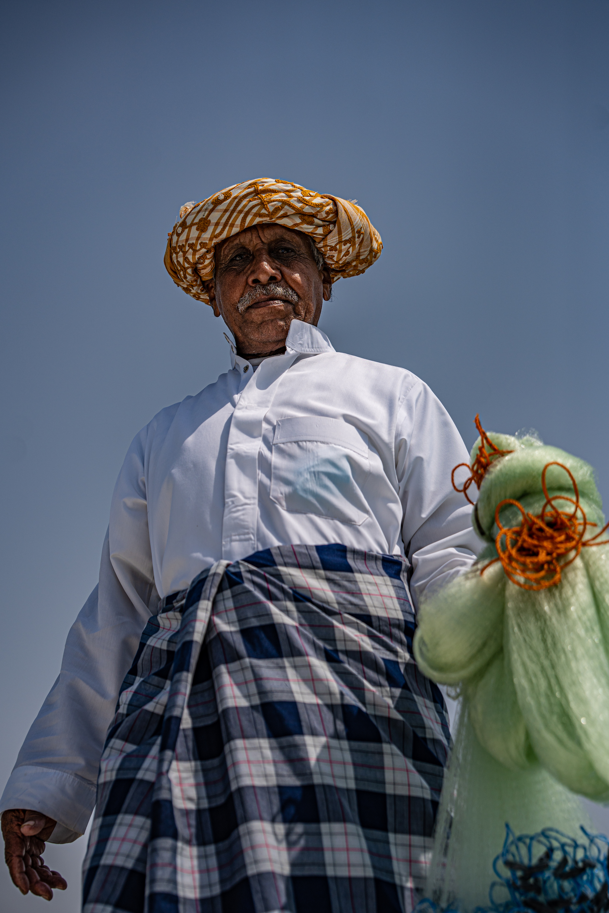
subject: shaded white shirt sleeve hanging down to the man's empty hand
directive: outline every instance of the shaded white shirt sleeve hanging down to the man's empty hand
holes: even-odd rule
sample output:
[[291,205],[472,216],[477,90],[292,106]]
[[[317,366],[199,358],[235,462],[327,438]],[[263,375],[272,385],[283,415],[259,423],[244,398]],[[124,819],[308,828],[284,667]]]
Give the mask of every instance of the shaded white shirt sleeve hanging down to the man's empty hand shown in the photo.
[[[27,733],[0,800],[0,812],[31,808],[55,818],[51,843],[75,840],[87,827],[121,682],[158,604],[141,438],[131,445],[112,498],[100,582],[70,628],[58,679]],[[131,550],[125,553],[128,530]]]

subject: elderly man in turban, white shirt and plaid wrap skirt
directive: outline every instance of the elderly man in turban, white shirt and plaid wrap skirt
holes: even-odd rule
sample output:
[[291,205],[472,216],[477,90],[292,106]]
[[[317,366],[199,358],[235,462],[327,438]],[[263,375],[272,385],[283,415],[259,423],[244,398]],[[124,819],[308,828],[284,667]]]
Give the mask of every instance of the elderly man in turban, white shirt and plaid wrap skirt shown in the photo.
[[449,740],[415,606],[477,545],[434,394],[317,329],[381,249],[358,206],[289,182],[183,206],[165,265],[232,331],[231,370],[121,469],[99,587],[2,799],[24,894],[65,887],[43,841],[96,804],[86,913],[413,908]]

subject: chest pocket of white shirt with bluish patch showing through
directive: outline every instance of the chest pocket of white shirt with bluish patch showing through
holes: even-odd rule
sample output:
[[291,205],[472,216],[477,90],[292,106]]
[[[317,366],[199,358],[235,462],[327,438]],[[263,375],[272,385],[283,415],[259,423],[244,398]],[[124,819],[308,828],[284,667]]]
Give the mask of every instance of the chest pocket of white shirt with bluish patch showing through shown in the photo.
[[311,416],[278,421],[270,497],[280,508],[359,526],[368,517],[362,488],[369,472],[368,437],[353,425]]

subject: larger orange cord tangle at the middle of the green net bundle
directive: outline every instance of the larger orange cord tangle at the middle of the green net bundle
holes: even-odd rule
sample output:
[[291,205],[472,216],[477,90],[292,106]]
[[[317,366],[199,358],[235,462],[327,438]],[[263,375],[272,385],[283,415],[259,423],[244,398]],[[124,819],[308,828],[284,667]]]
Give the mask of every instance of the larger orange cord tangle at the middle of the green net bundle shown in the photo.
[[[567,498],[565,495],[550,497],[546,486],[546,472],[551,466],[560,466],[567,473],[572,482],[574,498]],[[583,548],[609,545],[609,540],[595,541],[606,530],[609,530],[609,523],[595,536],[583,540],[587,528],[596,526],[596,524],[589,523],[586,519],[583,507],[580,505],[577,483],[566,466],[555,460],[546,463],[541,472],[541,488],[546,500],[540,514],[528,513],[520,501],[512,498],[506,498],[497,505],[495,522],[499,534],[495,540],[495,547],[499,558],[488,561],[480,574],[483,574],[491,564],[500,561],[509,580],[522,587],[523,590],[546,590],[561,582],[562,568],[572,564]],[[572,513],[568,510],[559,510],[554,504],[554,501],[557,500],[569,501],[573,505]],[[520,526],[509,529],[502,526],[499,513],[501,508],[507,504],[513,504],[520,510],[522,516]],[[505,544],[502,541],[504,539]],[[563,561],[562,559],[570,552],[574,552],[572,558]]]

